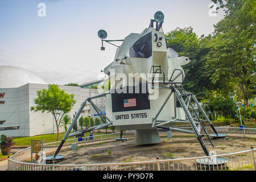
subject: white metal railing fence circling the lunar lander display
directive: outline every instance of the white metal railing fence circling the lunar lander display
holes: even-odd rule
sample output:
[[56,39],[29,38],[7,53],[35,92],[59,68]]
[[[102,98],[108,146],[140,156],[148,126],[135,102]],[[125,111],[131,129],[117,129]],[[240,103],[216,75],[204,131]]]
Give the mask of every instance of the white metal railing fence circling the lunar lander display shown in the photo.
[[[192,131],[191,127],[183,127],[184,130]],[[212,129],[210,127],[206,127],[208,134],[212,134]],[[248,137],[255,138],[256,137],[256,129],[240,129],[234,127],[216,127],[218,133],[227,134],[228,137]],[[203,134],[203,130],[201,129],[201,133]],[[127,138],[127,140],[131,140],[135,138],[135,131],[126,131],[123,132],[123,137]],[[166,136],[166,131],[163,129],[159,130],[160,137]],[[178,132],[172,132],[173,137],[179,136],[188,136],[191,134],[184,134]],[[114,134],[105,134],[105,135],[94,135],[93,138],[85,137],[82,138],[82,141],[78,141],[76,139],[66,140],[61,148],[61,151],[69,150],[71,148],[71,144],[75,142],[78,146],[99,144],[99,143],[108,143],[114,142],[115,138],[119,138],[119,133]],[[52,142],[44,144],[43,151],[46,152],[46,155],[53,154],[60,142]],[[248,146],[249,148],[250,146]],[[196,170],[256,170],[255,167],[255,148],[251,148],[246,151],[234,152],[232,154],[224,154],[224,155],[215,155],[215,156],[203,156],[197,158],[184,158],[184,159],[170,159],[170,160],[153,160],[148,162],[133,162],[133,163],[109,163],[109,164],[37,164],[30,163],[31,153],[30,147],[25,148],[17,152],[15,155],[11,156],[8,160],[8,170],[10,171],[74,171],[74,170],[140,170],[140,171],[148,171],[148,170],[168,170],[168,171],[196,171]],[[202,165],[197,163],[198,160],[210,160],[213,158],[226,158],[228,159],[227,163],[223,163],[220,165]],[[35,158],[35,155],[33,156]]]

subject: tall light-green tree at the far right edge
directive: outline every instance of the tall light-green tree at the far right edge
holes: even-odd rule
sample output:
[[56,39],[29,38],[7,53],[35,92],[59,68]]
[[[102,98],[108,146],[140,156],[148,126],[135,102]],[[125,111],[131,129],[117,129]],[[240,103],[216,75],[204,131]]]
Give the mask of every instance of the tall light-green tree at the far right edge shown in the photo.
[[[209,42],[207,73],[213,83],[233,86],[248,106],[255,97],[255,1],[213,0],[224,9],[225,18],[215,26]],[[239,95],[239,94],[237,94]]]

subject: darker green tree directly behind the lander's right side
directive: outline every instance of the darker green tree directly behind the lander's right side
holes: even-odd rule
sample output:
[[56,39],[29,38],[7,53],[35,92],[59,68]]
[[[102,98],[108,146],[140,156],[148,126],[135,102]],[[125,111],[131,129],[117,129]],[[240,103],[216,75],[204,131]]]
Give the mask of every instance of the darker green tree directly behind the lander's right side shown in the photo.
[[212,88],[209,77],[205,75],[205,55],[209,48],[205,46],[210,37],[198,38],[192,27],[176,28],[167,33],[168,47],[175,49],[179,56],[189,57],[191,62],[183,66],[185,79],[183,86],[199,98],[205,97],[207,89]]

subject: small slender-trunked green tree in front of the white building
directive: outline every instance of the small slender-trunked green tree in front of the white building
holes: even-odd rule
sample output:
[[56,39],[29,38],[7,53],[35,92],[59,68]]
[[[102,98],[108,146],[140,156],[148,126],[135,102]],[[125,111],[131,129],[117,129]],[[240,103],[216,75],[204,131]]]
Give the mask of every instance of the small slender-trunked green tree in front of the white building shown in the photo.
[[75,105],[74,94],[67,94],[64,90],[60,90],[58,85],[49,84],[48,89],[38,90],[37,98],[35,98],[35,106],[31,106],[31,111],[42,111],[51,113],[55,120],[57,128],[57,141],[59,140],[59,126],[63,115],[69,113]]

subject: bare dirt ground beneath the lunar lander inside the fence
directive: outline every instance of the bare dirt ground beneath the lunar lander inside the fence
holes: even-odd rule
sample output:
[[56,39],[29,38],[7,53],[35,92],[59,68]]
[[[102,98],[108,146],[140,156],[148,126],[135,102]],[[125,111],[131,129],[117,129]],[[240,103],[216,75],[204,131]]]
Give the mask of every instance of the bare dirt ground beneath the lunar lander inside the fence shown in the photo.
[[[204,137],[205,143],[209,143]],[[208,145],[209,151],[217,155],[249,150],[256,146],[255,139],[226,138],[212,140],[214,148]],[[100,164],[123,163],[162,159],[192,158],[205,156],[200,143],[193,137],[161,138],[157,144],[136,145],[133,140],[127,142],[113,142],[86,146],[75,151],[60,152],[65,155],[64,160],[56,164]]]

